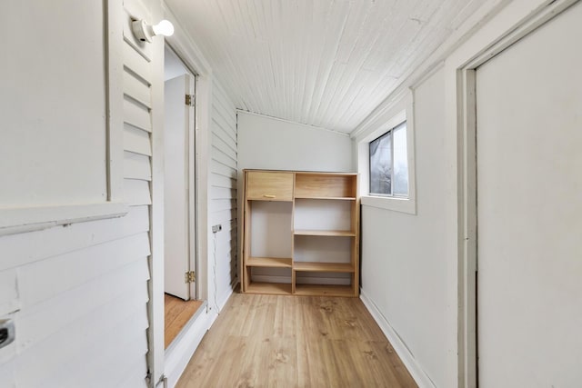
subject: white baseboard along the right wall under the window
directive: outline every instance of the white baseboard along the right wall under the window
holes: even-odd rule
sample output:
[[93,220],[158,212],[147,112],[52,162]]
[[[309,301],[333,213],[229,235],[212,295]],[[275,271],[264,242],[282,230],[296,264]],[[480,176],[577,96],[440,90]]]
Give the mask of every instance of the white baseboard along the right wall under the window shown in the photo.
[[415,382],[418,384],[420,388],[436,388],[435,384],[430,380],[423,371],[423,369],[416,363],[415,357],[410,353],[406,344],[402,342],[396,331],[392,328],[390,323],[386,320],[386,317],[380,312],[377,308],[376,303],[374,303],[367,295],[364,293],[363,290],[360,290],[360,299],[366,306],[367,310],[372,314],[372,317],[380,326],[380,329],[386,335],[388,341],[392,344],[392,347],[402,360],[402,363],[405,364],[406,369],[412,375],[412,378],[415,379]]

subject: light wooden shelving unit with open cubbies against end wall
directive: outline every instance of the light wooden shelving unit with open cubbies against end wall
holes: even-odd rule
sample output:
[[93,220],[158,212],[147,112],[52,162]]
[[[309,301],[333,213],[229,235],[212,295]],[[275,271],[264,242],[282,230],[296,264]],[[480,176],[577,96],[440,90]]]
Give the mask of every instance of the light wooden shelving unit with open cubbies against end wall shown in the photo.
[[[245,170],[243,293],[358,296],[356,188],[357,174]],[[289,252],[268,252],[274,239]]]

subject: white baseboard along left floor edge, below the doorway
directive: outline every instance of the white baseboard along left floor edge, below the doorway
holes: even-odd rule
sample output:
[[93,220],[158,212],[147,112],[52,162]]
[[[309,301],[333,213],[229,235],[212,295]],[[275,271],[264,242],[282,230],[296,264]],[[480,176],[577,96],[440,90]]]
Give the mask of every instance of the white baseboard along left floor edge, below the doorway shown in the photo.
[[200,313],[196,314],[186,324],[186,327],[178,334],[176,340],[166,349],[164,369],[169,388],[176,386],[178,379],[186,369],[190,358],[192,358],[192,354],[196,352],[202,338],[210,329],[212,323],[216,321],[218,314],[206,307],[207,302],[200,307]]

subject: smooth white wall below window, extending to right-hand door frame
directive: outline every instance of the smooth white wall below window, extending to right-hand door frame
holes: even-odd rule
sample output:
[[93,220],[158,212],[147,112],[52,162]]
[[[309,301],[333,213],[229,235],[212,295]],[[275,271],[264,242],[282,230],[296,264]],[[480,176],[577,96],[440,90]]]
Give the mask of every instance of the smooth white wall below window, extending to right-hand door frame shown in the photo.
[[455,386],[455,279],[447,270],[445,77],[414,92],[416,215],[362,205],[362,293],[439,387]]

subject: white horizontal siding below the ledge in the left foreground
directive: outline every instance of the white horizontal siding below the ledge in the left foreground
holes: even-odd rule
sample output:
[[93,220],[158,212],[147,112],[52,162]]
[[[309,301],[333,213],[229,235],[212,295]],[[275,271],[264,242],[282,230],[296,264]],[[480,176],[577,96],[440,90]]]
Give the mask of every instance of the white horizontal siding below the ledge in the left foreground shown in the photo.
[[0,238],[3,256],[20,259],[0,262],[10,291],[0,316],[16,323],[15,343],[0,350],[1,386],[116,386],[146,370],[148,220],[135,206],[123,218]]

